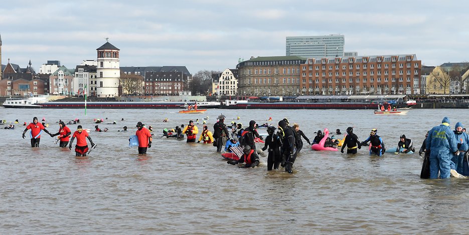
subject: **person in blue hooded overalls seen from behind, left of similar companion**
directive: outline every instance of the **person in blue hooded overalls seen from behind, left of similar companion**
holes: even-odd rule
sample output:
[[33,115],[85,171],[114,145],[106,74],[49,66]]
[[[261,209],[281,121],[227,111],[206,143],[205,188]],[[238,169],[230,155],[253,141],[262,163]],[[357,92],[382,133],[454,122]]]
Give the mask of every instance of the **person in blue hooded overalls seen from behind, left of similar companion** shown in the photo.
[[449,128],[449,118],[444,117],[440,125],[430,129],[426,141],[426,150],[430,150],[430,178],[449,178],[451,175],[451,157],[457,155],[457,140]]

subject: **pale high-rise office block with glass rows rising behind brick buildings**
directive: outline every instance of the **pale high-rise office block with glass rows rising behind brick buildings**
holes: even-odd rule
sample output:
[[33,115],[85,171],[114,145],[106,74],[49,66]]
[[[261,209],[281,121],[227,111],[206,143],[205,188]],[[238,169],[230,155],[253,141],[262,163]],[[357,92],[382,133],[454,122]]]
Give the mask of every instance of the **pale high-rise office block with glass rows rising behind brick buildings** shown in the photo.
[[324,58],[344,55],[345,37],[341,34],[324,36],[287,36],[286,56]]

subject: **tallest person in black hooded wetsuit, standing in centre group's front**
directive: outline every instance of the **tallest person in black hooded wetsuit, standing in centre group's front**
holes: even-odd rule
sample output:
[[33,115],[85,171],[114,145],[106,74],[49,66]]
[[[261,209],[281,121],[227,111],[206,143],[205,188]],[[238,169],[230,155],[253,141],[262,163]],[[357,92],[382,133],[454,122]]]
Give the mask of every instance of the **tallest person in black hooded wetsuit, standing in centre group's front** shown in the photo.
[[279,136],[282,140],[281,155],[285,171],[293,173],[293,163],[296,159],[295,133],[284,120],[278,122]]

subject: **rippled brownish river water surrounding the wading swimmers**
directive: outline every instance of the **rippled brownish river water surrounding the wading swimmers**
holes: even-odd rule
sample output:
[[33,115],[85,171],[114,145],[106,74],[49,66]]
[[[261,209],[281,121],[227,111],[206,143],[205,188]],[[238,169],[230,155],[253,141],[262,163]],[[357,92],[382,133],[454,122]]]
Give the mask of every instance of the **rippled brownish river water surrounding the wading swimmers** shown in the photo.
[[[307,144],[294,173],[268,172],[266,164],[238,168],[227,164],[211,144],[159,138],[163,128],[209,117],[211,127],[223,112],[244,125],[271,116],[288,117],[312,140],[328,127],[354,126],[364,140],[378,128],[387,147],[403,133],[418,149],[425,132],[443,116],[465,123],[467,111],[413,109],[407,115],[379,116],[372,110],[225,110],[180,114],[175,109],[7,109],[0,119],[47,119],[57,132],[58,119],[79,118],[94,129],[97,147],[86,158],[62,149],[47,134],[39,148],[21,137],[24,126],[0,129],[0,233],[48,234],[317,234],[317,233],[466,233],[469,230],[467,179],[422,180],[419,155],[370,156],[313,151]],[[162,122],[168,117],[169,122]],[[124,118],[124,121],[120,121]],[[154,128],[148,154],[128,148],[137,121]],[[122,126],[128,132],[118,132]],[[2,126],[3,127],[3,126]],[[72,132],[76,125],[69,125]],[[211,127],[211,129],[213,129]],[[265,129],[264,129],[265,130]],[[260,132],[262,132],[261,129]],[[264,131],[265,132],[265,131]],[[27,134],[28,136],[29,134]],[[261,157],[261,161],[267,159]]]

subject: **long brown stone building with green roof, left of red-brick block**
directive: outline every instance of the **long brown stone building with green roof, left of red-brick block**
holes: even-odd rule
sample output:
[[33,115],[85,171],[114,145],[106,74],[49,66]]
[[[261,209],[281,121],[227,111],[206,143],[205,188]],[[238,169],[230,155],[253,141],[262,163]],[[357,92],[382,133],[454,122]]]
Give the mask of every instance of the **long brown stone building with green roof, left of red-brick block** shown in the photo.
[[238,95],[298,95],[300,94],[299,56],[251,57],[238,68]]

